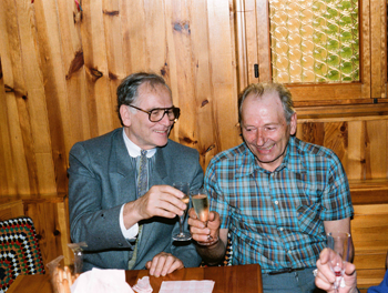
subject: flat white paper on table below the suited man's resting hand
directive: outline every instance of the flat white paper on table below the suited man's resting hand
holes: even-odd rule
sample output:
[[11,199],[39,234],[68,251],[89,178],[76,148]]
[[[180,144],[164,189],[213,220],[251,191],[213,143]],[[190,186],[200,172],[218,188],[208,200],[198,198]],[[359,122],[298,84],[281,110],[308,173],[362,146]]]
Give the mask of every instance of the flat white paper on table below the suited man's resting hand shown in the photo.
[[159,293],[212,293],[214,281],[163,281]]

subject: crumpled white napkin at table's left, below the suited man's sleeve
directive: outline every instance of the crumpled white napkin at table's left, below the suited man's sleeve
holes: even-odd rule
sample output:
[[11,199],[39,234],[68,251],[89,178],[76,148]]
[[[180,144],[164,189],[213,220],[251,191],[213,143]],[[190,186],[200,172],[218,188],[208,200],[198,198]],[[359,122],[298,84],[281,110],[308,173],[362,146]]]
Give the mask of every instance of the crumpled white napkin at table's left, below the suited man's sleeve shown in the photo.
[[82,273],[70,290],[71,293],[134,293],[125,282],[124,270],[92,269]]

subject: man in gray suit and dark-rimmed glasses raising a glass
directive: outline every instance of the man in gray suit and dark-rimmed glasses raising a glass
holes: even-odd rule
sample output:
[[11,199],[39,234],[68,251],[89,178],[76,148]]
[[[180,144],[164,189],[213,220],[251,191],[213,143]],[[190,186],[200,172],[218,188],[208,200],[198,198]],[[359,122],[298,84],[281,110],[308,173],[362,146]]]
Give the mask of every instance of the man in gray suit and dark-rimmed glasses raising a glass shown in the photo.
[[75,143],[69,155],[70,230],[88,244],[83,270],[146,267],[159,276],[197,266],[195,246],[172,240],[186,208],[172,184],[197,189],[203,170],[196,150],[169,140],[180,117],[169,85],[131,74],[118,88],[118,111],[123,128]]

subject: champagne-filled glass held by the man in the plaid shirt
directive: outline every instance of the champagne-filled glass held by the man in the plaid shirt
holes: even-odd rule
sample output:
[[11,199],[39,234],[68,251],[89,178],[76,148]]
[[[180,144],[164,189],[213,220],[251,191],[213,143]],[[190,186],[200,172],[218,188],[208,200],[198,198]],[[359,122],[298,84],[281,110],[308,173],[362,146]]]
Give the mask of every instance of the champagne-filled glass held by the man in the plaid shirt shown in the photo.
[[[196,213],[196,216],[200,221],[204,222],[207,226],[208,221],[208,194],[207,191],[204,188],[201,188],[198,190],[194,190],[190,193],[194,206],[194,211]],[[214,239],[213,236],[208,235],[208,241],[206,242],[197,242],[200,245],[212,245],[215,242],[218,241],[218,239]]]

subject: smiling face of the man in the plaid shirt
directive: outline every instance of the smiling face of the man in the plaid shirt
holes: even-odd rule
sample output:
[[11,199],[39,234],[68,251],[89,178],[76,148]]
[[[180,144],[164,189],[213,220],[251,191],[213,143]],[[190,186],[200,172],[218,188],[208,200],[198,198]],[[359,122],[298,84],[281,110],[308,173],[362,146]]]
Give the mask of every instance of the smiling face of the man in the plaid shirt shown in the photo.
[[251,93],[242,105],[243,138],[257,163],[270,172],[283,162],[290,134],[296,132],[296,113],[289,125],[276,92]]

